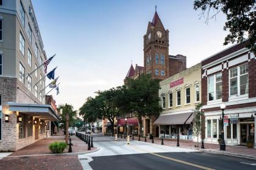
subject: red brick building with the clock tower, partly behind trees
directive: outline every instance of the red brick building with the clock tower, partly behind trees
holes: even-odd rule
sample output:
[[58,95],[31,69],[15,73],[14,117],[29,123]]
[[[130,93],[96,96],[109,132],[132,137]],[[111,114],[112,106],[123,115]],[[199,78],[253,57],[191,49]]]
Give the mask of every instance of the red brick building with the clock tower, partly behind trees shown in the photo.
[[[148,29],[143,39],[144,67],[136,64],[134,69],[131,65],[124,82],[127,78],[138,78],[141,74],[146,73],[150,74],[152,78],[165,80],[187,68],[186,56],[179,54],[169,55],[169,30],[165,29],[157,12],[155,12],[152,21],[148,22]],[[155,119],[156,118],[143,118],[143,135],[153,134],[154,136],[158,136],[158,129],[156,129],[157,127],[153,124]],[[123,124],[121,126],[123,126]],[[135,128],[137,128],[137,126],[138,125],[136,125]],[[129,131],[132,131],[132,129],[133,127],[129,128]]]

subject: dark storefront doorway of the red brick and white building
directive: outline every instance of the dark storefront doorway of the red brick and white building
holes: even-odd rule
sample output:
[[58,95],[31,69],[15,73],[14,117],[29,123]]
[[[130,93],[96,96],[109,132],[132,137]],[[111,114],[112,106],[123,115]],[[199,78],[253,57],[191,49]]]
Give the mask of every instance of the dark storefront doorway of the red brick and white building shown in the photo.
[[254,123],[243,123],[240,124],[240,144],[246,145],[246,141],[248,140],[249,135],[254,138]]

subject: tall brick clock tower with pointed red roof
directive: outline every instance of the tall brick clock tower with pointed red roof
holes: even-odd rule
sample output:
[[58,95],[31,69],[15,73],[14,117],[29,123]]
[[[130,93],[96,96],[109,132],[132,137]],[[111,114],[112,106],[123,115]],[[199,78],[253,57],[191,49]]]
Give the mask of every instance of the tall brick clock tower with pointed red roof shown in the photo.
[[155,10],[144,35],[144,73],[152,78],[165,80],[169,77],[169,30],[165,30]]

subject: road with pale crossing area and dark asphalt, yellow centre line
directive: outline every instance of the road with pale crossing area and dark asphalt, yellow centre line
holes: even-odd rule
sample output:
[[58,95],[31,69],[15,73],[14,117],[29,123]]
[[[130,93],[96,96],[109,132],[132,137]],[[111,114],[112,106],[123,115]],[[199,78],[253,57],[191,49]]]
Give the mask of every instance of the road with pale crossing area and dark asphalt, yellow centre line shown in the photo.
[[256,160],[207,154],[143,141],[114,141],[112,137],[94,137],[99,151],[86,154],[92,169],[256,169]]

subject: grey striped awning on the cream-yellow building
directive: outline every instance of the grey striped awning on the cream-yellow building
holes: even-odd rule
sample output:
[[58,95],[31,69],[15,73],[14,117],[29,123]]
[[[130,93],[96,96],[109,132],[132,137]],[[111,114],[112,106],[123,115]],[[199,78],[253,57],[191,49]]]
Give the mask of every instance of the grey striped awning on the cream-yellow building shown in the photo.
[[193,113],[160,115],[154,124],[190,124],[193,120]]

